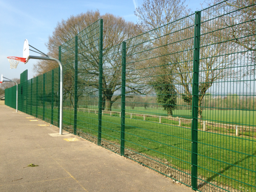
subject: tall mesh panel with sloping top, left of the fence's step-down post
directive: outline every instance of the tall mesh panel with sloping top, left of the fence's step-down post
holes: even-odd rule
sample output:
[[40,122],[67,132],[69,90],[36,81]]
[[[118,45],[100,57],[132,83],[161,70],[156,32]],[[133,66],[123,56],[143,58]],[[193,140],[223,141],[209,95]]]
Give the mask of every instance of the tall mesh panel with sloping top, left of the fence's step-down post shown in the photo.
[[[76,37],[76,134],[97,143],[100,20]],[[75,55],[74,55],[75,56]]]

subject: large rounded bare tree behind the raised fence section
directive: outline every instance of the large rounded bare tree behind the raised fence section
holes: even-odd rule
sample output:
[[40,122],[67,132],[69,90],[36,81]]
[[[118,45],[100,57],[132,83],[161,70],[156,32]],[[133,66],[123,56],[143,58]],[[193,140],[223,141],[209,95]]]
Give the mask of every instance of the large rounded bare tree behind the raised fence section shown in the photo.
[[[80,98],[98,92],[99,90],[99,41],[93,33],[93,24],[100,18],[103,19],[103,76],[102,76],[102,100],[103,108],[111,111],[113,102],[121,98],[120,89],[122,75],[122,42],[137,35],[135,25],[132,22],[125,21],[122,17],[112,14],[100,15],[99,11],[87,11],[77,16],[71,16],[67,20],[58,23],[53,35],[49,37],[46,44],[48,55],[58,58],[58,47],[67,41],[73,41],[77,34],[83,31],[79,38],[79,91]],[[95,30],[94,30],[95,31]],[[98,33],[99,34],[99,33]],[[133,41],[127,41],[127,46],[132,47]],[[116,46],[115,46],[116,45]],[[66,46],[66,44],[65,44]],[[72,47],[73,45],[70,45]],[[64,62],[64,96],[70,98],[70,105],[74,94],[74,50],[65,48]],[[74,47],[74,46],[73,46]],[[138,72],[132,70],[132,62],[136,60],[132,53],[138,49],[138,46],[127,50],[127,57],[131,64],[126,65],[126,76],[138,76]],[[114,54],[113,54],[114,53]],[[61,54],[62,55],[62,54]],[[73,59],[72,59],[73,58]],[[66,62],[67,61],[67,62]],[[45,73],[58,67],[51,61],[38,61],[34,66],[37,74]],[[143,94],[140,86],[131,87],[130,84],[139,84],[135,79],[127,79],[126,94]],[[132,97],[131,95],[128,97]]]

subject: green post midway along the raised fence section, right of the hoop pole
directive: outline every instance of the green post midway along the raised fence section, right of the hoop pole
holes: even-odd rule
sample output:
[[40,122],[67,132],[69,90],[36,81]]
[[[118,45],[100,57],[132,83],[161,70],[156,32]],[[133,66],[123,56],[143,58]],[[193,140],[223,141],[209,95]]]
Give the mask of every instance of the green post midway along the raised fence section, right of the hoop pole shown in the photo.
[[78,70],[78,37],[75,39],[75,93],[74,93],[74,134],[76,135],[76,123],[77,123],[77,70]]

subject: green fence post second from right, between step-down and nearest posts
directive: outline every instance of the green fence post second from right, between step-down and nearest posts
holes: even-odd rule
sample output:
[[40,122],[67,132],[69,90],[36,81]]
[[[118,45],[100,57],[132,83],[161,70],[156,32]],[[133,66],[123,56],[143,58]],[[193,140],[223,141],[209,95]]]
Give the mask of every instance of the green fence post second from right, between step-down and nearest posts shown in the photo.
[[125,154],[125,73],[126,73],[126,42],[122,43],[122,109],[121,109],[121,147],[120,154]]

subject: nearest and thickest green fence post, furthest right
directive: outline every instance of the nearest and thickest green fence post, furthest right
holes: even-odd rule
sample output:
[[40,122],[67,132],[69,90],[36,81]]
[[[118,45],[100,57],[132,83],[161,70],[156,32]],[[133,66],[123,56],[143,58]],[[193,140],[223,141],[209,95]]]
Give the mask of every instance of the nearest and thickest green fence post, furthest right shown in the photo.
[[194,58],[193,58],[193,79],[192,79],[192,169],[191,183],[192,188],[197,190],[197,168],[198,168],[198,79],[199,79],[199,48],[200,48],[200,29],[201,12],[195,12],[195,32],[194,32]]

